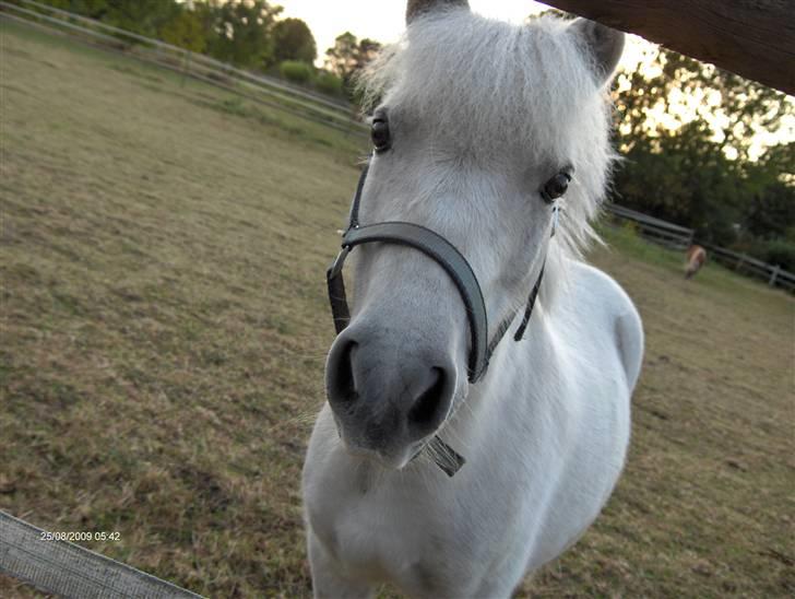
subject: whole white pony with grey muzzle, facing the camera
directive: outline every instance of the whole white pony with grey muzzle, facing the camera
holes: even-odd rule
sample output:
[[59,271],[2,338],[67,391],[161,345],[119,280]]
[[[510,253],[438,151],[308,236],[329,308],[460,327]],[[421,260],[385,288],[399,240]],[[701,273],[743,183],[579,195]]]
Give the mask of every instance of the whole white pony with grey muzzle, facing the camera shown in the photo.
[[[406,14],[366,75],[380,99],[359,221],[444,237],[479,282],[489,339],[510,328],[471,383],[450,272],[415,247],[356,248],[304,467],[313,589],[509,597],[593,522],[629,443],[640,317],[578,261],[613,160],[606,84],[624,35],[585,20],[510,25],[466,0],[411,0]],[[437,436],[465,459],[454,475],[435,463]]]

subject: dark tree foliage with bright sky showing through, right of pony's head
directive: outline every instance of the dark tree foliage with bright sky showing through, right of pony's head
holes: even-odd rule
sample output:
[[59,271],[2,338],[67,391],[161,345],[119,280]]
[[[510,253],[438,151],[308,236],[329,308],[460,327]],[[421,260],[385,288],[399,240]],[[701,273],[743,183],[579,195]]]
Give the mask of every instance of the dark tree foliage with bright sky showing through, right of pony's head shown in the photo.
[[795,227],[786,179],[795,144],[766,148],[759,138],[794,114],[783,94],[658,48],[648,67],[618,75],[614,99],[625,158],[616,201],[757,252]]

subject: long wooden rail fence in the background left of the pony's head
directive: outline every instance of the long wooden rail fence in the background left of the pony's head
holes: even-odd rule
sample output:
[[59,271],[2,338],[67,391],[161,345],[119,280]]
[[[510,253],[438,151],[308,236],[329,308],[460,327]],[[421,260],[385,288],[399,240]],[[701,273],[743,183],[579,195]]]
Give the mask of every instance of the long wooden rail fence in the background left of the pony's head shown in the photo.
[[357,118],[357,109],[352,104],[334,101],[285,81],[238,69],[209,56],[35,0],[0,0],[0,15],[7,19],[69,34],[103,49],[155,63],[345,133],[363,139],[368,134],[368,127]]

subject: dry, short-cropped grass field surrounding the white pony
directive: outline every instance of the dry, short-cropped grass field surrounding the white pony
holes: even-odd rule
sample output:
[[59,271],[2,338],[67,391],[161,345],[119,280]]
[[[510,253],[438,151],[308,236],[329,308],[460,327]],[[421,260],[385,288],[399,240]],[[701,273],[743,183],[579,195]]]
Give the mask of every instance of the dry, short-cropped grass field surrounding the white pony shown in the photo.
[[[207,596],[309,595],[299,472],[360,148],[3,21],[0,103],[0,508],[119,531],[86,544]],[[629,462],[519,596],[792,596],[792,297],[605,233],[648,336]]]

